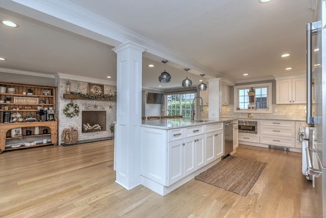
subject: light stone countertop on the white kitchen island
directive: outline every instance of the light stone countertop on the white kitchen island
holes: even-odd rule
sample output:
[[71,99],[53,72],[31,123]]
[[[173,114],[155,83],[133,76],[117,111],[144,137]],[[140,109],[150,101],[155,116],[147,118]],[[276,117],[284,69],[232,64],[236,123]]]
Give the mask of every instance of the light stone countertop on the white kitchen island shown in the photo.
[[[196,121],[197,120],[197,121]],[[220,119],[196,119],[192,121],[188,118],[182,119],[159,119],[159,120],[143,120],[141,127],[149,127],[149,128],[156,128],[156,129],[176,129],[182,127],[189,127],[189,126],[199,126],[199,125],[206,125],[212,123],[221,123],[227,121],[238,120],[238,118],[220,118]],[[204,120],[204,122],[200,122],[199,120]]]

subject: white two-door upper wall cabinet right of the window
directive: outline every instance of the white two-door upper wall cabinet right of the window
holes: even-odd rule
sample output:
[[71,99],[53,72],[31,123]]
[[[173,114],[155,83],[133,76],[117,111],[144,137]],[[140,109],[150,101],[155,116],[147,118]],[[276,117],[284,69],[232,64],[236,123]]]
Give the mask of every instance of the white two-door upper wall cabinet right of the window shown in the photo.
[[276,80],[276,103],[306,103],[306,86],[305,77]]

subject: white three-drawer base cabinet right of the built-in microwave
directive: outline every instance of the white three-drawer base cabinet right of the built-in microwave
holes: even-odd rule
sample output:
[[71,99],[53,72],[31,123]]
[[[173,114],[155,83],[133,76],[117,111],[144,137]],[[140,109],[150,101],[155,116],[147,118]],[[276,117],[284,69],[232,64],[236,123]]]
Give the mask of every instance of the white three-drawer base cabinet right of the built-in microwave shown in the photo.
[[295,147],[295,121],[260,121],[260,143]]

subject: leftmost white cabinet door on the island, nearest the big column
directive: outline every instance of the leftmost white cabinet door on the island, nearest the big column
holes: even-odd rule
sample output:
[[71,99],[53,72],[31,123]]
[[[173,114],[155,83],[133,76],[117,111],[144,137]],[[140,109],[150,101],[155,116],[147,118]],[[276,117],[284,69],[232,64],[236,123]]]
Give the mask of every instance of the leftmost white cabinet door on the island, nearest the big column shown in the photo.
[[184,140],[168,143],[168,186],[183,178]]

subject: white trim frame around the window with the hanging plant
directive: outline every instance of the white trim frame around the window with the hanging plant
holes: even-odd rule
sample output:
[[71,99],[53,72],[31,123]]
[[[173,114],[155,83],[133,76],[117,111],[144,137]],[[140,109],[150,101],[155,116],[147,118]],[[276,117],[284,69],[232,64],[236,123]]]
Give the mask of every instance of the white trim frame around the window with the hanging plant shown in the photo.
[[[251,88],[251,87],[268,87],[267,90],[267,106],[268,110],[236,110],[238,106],[238,89]],[[233,88],[233,99],[234,99],[234,113],[248,113],[248,114],[271,114],[273,113],[273,108],[271,104],[271,93],[272,93],[271,83],[262,83],[262,84],[252,84],[252,85],[242,85],[242,86],[234,86]]]

